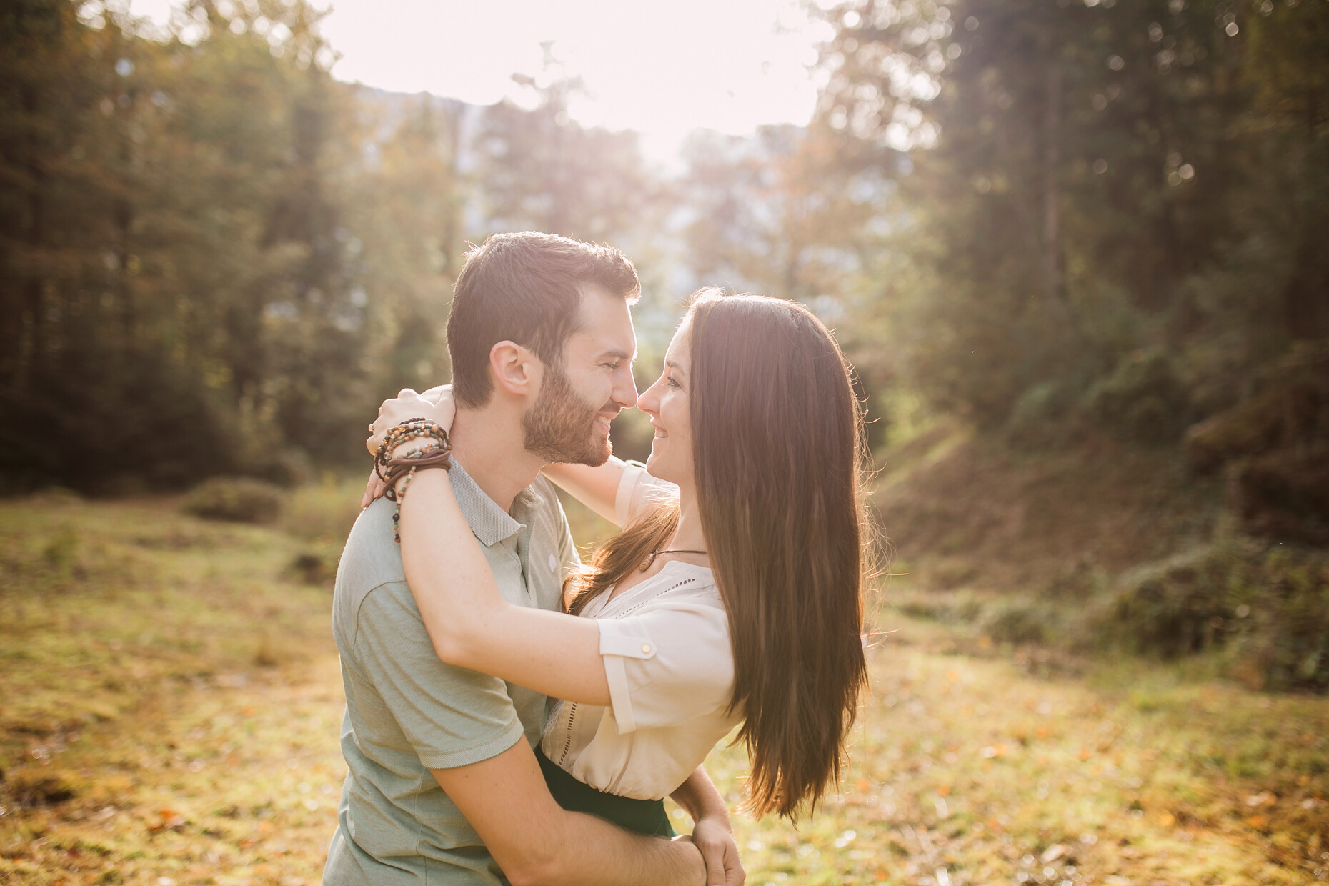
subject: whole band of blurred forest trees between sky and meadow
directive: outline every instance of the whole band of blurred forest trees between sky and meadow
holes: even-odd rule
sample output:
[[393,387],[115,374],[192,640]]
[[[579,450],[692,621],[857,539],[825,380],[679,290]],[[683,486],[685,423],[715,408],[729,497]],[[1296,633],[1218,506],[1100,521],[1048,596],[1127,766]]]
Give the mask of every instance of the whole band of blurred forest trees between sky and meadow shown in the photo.
[[828,7],[816,120],[698,132],[674,175],[570,120],[575,80],[385,94],[332,80],[306,3],[187,12],[3,13],[12,490],[56,480],[37,426],[98,429],[58,477],[88,491],[344,462],[383,392],[447,377],[466,242],[537,228],[621,244],[666,313],[698,282],[816,306],[878,445],[910,399],[1033,448],[1195,428],[1205,469],[1260,456],[1261,506],[1322,514],[1322,0]]

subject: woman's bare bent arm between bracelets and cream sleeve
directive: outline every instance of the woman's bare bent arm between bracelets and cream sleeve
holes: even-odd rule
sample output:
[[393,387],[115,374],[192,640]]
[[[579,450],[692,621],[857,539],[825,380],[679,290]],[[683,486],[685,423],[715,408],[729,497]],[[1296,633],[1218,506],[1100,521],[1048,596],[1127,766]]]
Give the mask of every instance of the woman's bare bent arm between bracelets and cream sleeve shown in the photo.
[[415,476],[400,533],[407,583],[440,659],[556,699],[610,704],[599,627],[502,598],[448,472]]

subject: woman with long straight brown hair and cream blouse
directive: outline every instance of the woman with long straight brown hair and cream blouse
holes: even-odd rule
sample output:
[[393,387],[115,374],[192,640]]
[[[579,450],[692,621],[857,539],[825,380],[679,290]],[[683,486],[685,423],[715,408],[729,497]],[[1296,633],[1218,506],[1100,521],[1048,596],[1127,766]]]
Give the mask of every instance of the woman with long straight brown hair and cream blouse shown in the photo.
[[[388,401],[375,428],[427,408]],[[546,469],[623,526],[569,580],[566,615],[502,600],[444,470],[403,497],[407,579],[443,660],[563,700],[541,765],[565,806],[667,829],[662,798],[742,724],[747,808],[792,820],[839,777],[867,681],[844,357],[796,303],[703,290],[638,408],[645,470]],[[447,425],[451,402],[425,417]]]

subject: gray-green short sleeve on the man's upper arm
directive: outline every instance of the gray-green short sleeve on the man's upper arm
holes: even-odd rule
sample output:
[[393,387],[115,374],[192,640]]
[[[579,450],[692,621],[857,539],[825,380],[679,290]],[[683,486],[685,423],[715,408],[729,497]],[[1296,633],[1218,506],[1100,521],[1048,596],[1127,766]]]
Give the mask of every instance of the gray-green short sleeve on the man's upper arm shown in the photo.
[[405,582],[365,596],[354,654],[429,769],[488,760],[524,735],[502,680],[439,660]]

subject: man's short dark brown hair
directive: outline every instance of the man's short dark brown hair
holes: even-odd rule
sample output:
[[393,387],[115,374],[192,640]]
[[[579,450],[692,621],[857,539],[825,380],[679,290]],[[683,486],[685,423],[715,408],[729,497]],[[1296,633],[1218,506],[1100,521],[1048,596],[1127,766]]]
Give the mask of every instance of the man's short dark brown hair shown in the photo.
[[594,283],[629,302],[637,268],[611,246],[521,231],[493,234],[466,254],[448,315],[452,392],[465,406],[489,401],[489,351],[500,341],[530,348],[546,365],[562,359],[578,329],[581,287]]

